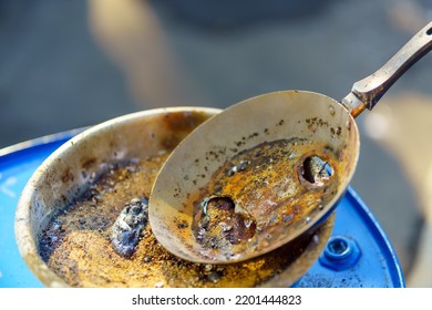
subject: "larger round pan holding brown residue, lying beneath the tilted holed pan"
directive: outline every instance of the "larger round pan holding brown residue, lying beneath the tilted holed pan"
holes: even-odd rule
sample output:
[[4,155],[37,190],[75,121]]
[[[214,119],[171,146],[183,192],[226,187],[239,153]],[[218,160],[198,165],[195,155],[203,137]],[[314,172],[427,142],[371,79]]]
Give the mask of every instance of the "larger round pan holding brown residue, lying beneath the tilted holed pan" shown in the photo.
[[[32,176],[17,208],[18,246],[34,275],[48,287],[292,285],[322,251],[333,217],[286,247],[229,265],[179,259],[155,240],[150,226],[131,257],[114,251],[106,236],[125,203],[147,196],[158,165],[176,143],[218,112],[179,107],[124,115],[52,154]],[[41,239],[39,232],[53,238]],[[42,240],[59,241],[48,257],[38,250]]]

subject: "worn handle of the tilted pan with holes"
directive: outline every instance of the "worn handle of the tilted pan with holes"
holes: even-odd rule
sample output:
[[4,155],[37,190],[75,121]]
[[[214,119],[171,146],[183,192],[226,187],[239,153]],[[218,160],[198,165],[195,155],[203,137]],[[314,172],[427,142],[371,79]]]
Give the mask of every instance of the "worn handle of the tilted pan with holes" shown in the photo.
[[341,100],[353,117],[366,107],[372,110],[382,95],[418,60],[432,49],[432,22],[420,30],[392,59],[376,73],[356,82]]

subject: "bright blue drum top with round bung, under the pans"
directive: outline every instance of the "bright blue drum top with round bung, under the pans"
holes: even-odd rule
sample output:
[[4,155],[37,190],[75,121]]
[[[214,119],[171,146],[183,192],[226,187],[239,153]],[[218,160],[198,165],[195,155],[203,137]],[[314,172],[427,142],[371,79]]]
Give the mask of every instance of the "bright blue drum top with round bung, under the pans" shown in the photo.
[[[16,207],[21,190],[39,165],[80,131],[0,149],[0,287],[42,287],[18,251]],[[294,287],[404,287],[403,273],[388,237],[352,188],[348,188],[337,206],[327,247]]]

